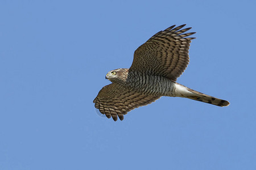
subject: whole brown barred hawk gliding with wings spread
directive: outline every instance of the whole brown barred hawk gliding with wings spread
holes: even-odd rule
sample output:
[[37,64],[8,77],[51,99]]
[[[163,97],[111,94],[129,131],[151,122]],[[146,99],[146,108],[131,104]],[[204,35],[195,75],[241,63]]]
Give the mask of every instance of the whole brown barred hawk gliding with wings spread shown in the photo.
[[123,115],[132,109],[152,103],[161,96],[185,97],[214,104],[219,107],[229,102],[205,95],[179,83],[176,79],[188,63],[189,43],[195,37],[190,28],[171,27],[160,31],[139,46],[134,52],[130,69],[116,69],[106,74],[112,83],[103,87],[93,100],[95,107],[114,121],[123,120]]

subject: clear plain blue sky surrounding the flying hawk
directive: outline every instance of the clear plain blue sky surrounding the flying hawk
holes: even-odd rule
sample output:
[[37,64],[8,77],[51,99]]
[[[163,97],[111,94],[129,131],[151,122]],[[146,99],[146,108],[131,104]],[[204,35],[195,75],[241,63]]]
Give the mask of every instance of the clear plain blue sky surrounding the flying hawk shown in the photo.
[[[1,1],[0,169],[256,169],[255,1]],[[177,97],[114,122],[108,71],[173,24],[197,32]]]

